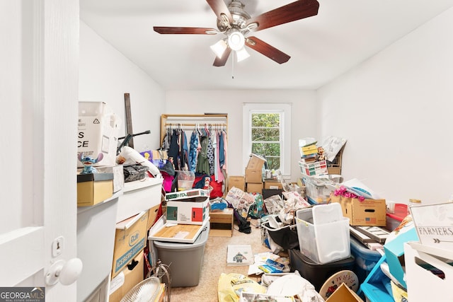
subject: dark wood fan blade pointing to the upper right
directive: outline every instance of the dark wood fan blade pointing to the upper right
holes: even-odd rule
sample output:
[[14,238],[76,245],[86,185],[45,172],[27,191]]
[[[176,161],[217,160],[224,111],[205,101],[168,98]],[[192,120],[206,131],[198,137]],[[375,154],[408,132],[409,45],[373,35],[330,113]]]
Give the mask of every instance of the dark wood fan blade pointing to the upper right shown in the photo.
[[276,25],[297,21],[303,18],[316,16],[318,14],[319,2],[316,0],[299,0],[275,8],[267,13],[252,17],[247,20],[247,25],[257,23],[258,28],[254,31],[271,28]]

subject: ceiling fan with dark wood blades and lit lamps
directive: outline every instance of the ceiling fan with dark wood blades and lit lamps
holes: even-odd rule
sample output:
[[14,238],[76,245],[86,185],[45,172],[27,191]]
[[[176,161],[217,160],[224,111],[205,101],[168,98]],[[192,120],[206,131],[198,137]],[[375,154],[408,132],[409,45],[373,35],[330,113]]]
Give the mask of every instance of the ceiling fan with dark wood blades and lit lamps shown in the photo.
[[250,55],[245,46],[260,52],[279,64],[287,62],[290,58],[289,55],[258,39],[258,37],[248,36],[248,33],[316,16],[319,8],[319,2],[316,0],[298,0],[251,17],[244,10],[245,5],[239,0],[232,0],[228,6],[226,6],[224,0],[206,1],[217,16],[217,29],[154,26],[154,31],[161,34],[224,34],[225,37],[211,46],[212,51],[217,54],[214,66],[224,66],[231,50],[236,52],[238,62],[246,59]]

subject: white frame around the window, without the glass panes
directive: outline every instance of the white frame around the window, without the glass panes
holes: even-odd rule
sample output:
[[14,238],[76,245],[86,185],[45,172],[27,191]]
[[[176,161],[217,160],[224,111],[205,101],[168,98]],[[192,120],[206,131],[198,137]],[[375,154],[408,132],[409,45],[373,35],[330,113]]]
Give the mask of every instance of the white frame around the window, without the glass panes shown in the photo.
[[243,103],[243,166],[246,167],[252,151],[253,113],[280,113],[280,171],[282,175],[291,175],[291,103]]

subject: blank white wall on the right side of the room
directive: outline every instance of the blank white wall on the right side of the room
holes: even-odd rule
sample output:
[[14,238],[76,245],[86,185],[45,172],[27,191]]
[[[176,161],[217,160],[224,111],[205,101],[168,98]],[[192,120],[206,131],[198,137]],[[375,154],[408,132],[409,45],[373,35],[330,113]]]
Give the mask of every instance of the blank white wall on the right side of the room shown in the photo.
[[453,9],[318,91],[319,136],[345,137],[342,174],[387,200],[453,193]]

